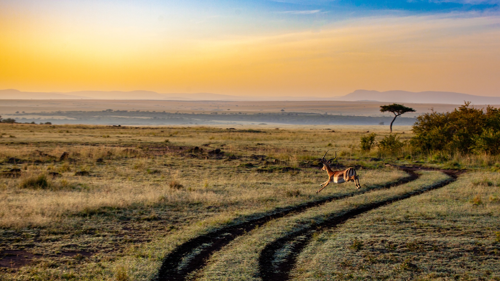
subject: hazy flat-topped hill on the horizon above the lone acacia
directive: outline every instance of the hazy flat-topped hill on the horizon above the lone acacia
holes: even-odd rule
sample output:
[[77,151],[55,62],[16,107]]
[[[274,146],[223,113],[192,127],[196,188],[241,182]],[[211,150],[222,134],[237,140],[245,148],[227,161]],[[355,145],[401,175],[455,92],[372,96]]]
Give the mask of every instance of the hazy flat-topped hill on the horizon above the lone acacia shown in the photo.
[[404,90],[355,90],[349,94],[337,96],[336,100],[373,100],[384,102],[411,102],[411,103],[448,103],[462,104],[470,101],[474,104],[500,104],[500,97],[479,96],[450,91],[404,91]]

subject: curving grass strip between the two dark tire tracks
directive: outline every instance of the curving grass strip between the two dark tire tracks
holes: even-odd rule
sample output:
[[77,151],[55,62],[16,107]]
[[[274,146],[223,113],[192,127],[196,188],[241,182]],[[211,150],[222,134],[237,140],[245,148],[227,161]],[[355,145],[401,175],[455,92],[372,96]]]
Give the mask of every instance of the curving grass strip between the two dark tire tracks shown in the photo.
[[[348,210],[373,202],[396,198],[401,194],[420,189],[423,186],[432,185],[448,178],[440,172],[423,172],[422,176],[412,182],[408,182],[389,189],[374,190],[363,194],[334,200],[323,205],[310,208],[294,216],[287,216],[270,221],[251,232],[240,236],[229,243],[223,250],[215,253],[206,268],[198,272],[201,280],[219,280],[234,278],[236,280],[259,280],[258,257],[264,246],[270,242],[299,232],[304,228],[314,227],[322,221],[341,216]],[[298,237],[300,238],[300,236]],[[284,256],[288,249],[284,245],[281,254]],[[291,246],[291,245],[290,245]],[[326,252],[325,255],[328,253]],[[276,256],[276,259],[282,256]],[[272,265],[269,265],[272,266]]]

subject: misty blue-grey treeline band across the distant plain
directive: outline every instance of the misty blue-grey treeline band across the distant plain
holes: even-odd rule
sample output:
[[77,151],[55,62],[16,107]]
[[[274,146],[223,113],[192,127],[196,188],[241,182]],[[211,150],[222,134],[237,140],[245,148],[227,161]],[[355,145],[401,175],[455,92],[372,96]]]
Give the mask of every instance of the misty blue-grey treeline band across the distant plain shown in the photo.
[[[351,116],[328,115],[304,112],[253,113],[241,112],[211,112],[211,113],[178,113],[161,111],[53,111],[15,114],[20,122],[50,121],[52,123],[89,123],[89,124],[216,124],[232,122],[283,123],[283,124],[346,124],[346,125],[377,125],[389,124],[392,117],[385,116]],[[23,115],[46,115],[47,118],[25,118]],[[65,116],[65,119],[54,119],[48,116]],[[396,125],[412,125],[415,118],[399,117]]]

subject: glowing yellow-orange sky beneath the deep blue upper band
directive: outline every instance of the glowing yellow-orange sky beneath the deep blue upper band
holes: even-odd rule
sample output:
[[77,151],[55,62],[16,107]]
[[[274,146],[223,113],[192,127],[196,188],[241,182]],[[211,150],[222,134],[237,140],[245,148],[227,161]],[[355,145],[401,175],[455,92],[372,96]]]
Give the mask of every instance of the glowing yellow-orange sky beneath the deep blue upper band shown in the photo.
[[0,4],[0,89],[500,96],[496,14],[377,14],[320,24],[285,18],[286,26],[275,19],[282,13],[271,13],[261,19],[270,23],[252,27],[250,12],[233,21],[223,9],[183,14],[179,6],[82,3]]

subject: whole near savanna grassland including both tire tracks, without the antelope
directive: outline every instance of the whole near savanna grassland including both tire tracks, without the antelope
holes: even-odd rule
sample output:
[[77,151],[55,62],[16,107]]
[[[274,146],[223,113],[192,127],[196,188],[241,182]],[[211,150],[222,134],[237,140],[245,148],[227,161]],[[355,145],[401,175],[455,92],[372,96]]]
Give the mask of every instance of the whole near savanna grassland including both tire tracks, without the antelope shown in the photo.
[[0,124],[0,279],[499,279],[497,158],[381,129]]

